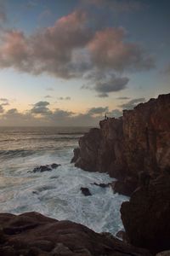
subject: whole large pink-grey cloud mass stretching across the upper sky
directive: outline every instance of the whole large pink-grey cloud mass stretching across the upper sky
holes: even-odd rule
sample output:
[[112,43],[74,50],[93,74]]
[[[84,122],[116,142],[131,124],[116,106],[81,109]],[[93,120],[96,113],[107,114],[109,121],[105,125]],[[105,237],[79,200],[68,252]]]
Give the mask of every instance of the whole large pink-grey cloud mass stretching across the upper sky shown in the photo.
[[90,27],[88,15],[76,10],[30,36],[8,30],[1,38],[0,67],[71,79],[93,68],[120,72],[154,66],[151,56],[139,44],[125,42],[122,28],[95,31]]

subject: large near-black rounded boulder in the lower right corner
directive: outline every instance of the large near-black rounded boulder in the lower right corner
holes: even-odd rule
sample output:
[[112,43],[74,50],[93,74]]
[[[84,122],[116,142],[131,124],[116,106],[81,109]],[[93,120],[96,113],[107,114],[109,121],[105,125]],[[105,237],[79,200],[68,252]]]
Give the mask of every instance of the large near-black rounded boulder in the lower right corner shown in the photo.
[[170,249],[170,175],[161,175],[133,192],[121,207],[129,241],[153,253]]

